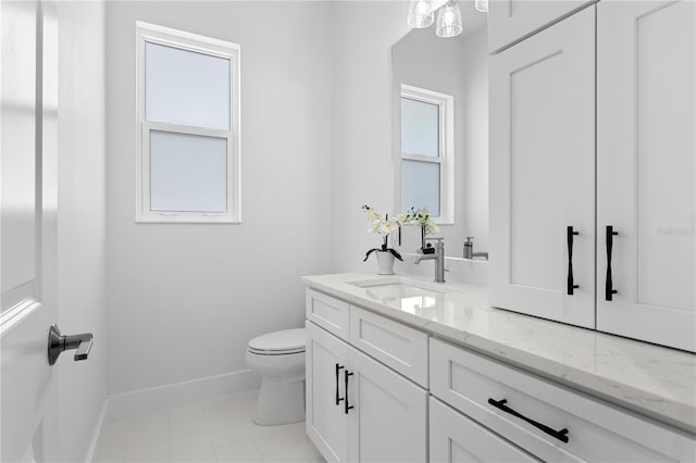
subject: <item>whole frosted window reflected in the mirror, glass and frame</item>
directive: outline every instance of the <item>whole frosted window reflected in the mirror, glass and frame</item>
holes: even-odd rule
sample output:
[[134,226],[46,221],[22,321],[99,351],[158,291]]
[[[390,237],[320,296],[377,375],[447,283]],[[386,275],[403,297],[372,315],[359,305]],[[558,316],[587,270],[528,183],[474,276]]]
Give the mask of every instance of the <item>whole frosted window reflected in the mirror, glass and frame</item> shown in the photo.
[[401,85],[401,211],[452,221],[453,97]]

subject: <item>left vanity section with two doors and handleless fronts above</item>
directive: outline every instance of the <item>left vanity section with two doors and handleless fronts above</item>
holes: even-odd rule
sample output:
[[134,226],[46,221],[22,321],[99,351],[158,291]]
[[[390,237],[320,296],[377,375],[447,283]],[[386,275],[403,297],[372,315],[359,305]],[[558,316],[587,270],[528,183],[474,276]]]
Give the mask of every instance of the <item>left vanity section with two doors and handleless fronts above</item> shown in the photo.
[[[308,301],[316,295],[334,306],[341,302],[312,290]],[[350,310],[363,347],[395,364],[423,358],[413,374],[420,377],[422,370],[427,376],[427,335]],[[427,390],[309,320],[307,333],[307,433],[322,455],[337,462],[426,461]],[[413,346],[421,346],[422,352]]]

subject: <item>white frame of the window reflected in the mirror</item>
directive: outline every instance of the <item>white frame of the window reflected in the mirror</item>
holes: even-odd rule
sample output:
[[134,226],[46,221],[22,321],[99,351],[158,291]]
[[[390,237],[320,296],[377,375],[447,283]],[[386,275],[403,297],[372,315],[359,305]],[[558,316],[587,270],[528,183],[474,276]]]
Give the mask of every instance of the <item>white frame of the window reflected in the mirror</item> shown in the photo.
[[[400,98],[423,101],[436,104],[439,108],[439,153],[437,158],[405,154],[401,147],[399,147],[400,157],[399,162],[396,163],[395,175],[395,178],[398,179],[396,210],[401,210],[401,162],[408,160],[439,164],[439,216],[433,217],[433,220],[436,224],[451,225],[455,223],[455,97],[401,84]],[[400,105],[401,100],[399,99],[399,108]],[[399,136],[400,142],[401,137]]]

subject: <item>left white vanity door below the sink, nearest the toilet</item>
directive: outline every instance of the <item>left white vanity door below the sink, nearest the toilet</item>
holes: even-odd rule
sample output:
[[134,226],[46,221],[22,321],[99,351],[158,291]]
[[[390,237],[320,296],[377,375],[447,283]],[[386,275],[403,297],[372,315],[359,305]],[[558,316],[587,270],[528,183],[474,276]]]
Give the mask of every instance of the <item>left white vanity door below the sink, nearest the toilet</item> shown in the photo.
[[311,322],[306,326],[307,435],[326,461],[347,462],[348,420],[344,413],[343,372],[347,367],[348,345]]

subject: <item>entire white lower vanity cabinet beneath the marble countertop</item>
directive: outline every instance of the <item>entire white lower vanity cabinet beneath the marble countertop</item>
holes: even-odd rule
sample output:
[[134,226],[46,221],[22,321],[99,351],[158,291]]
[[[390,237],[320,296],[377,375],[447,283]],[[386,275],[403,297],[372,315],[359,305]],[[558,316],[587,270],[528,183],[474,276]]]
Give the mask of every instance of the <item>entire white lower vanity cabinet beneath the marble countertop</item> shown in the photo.
[[[529,373],[436,338],[442,334],[432,328],[415,329],[313,289],[307,300],[306,426],[330,462],[696,461],[693,434],[572,389],[572,383]],[[345,339],[311,321],[315,300],[347,304],[348,316],[330,325]],[[465,313],[467,305],[461,309]],[[488,352],[499,354],[495,347]],[[540,354],[527,361],[529,368],[548,368],[539,366]],[[558,365],[546,371],[557,372]],[[569,370],[562,377],[577,373]],[[635,371],[626,375],[636,377]],[[596,384],[599,390],[607,386],[601,377]],[[639,395],[629,384],[612,387],[621,397]]]

